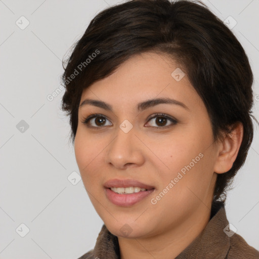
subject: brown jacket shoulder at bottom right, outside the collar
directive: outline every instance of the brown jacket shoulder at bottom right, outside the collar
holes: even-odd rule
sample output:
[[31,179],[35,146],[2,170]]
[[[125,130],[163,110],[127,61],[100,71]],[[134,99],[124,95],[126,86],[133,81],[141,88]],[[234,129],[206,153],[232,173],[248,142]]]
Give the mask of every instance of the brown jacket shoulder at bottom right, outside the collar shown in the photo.
[[246,241],[238,234],[230,238],[230,248],[228,259],[249,258],[259,259],[259,251],[248,245]]

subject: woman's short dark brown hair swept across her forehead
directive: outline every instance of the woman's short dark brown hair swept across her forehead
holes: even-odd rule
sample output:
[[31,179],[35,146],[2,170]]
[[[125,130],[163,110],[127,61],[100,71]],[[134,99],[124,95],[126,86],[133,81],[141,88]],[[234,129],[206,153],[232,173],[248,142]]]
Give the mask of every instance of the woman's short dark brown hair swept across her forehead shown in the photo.
[[253,139],[253,75],[235,35],[201,2],[133,0],[94,17],[66,67],[63,64],[62,109],[70,117],[72,142],[83,89],[109,76],[132,55],[147,51],[166,54],[182,65],[206,106],[214,140],[222,132],[230,133],[235,123],[243,124],[237,158],[215,185],[214,200],[225,201],[226,187],[244,164]]

